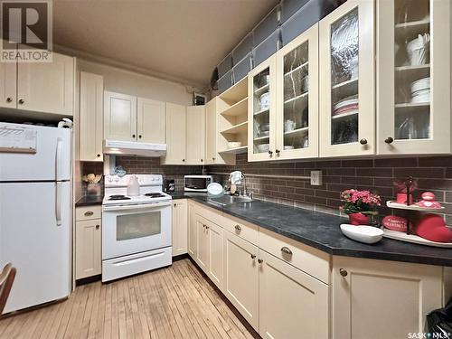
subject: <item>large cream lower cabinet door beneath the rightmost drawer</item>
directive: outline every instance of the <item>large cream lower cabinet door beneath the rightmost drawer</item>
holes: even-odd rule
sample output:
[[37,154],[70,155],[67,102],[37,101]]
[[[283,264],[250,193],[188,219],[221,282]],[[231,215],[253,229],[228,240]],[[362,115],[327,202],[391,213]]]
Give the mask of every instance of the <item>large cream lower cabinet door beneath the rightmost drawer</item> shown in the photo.
[[260,336],[328,339],[329,287],[264,250],[259,259]]

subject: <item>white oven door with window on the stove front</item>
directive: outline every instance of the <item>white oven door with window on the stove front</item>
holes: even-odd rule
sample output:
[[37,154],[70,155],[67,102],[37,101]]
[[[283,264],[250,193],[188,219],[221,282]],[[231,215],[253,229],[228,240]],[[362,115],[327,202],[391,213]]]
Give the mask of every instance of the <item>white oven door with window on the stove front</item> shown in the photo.
[[102,259],[171,246],[171,202],[102,208]]

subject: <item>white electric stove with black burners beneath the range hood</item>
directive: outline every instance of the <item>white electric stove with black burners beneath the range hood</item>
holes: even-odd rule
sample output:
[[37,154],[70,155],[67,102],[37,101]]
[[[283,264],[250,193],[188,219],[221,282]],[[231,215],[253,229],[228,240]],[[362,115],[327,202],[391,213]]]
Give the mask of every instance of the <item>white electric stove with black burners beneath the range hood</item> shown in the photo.
[[171,265],[171,195],[160,174],[133,174],[139,195],[127,196],[132,174],[105,176],[102,281]]

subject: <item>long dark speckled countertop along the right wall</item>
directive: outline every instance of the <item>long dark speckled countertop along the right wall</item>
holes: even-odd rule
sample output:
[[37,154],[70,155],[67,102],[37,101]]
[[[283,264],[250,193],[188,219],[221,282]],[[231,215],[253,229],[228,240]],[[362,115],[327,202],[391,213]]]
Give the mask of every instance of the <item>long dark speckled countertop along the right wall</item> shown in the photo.
[[259,200],[222,207],[209,202],[206,194],[202,193],[176,192],[173,197],[174,199],[193,199],[332,255],[452,267],[452,250],[386,238],[372,245],[350,240],[339,228],[339,225],[346,220],[331,214]]

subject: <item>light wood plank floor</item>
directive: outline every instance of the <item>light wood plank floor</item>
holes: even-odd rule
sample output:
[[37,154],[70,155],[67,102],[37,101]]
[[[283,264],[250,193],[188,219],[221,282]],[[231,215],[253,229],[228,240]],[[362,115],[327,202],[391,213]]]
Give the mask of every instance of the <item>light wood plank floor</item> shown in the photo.
[[61,303],[0,320],[0,338],[251,339],[189,259],[102,285],[77,287]]

